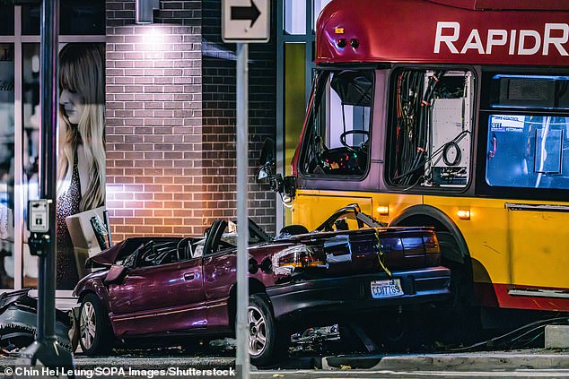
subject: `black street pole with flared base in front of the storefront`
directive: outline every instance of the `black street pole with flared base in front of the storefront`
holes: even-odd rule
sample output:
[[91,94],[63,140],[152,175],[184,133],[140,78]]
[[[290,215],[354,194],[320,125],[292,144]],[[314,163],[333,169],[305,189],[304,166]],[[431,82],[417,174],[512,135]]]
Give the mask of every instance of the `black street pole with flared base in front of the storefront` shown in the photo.
[[57,107],[59,0],[43,0],[41,7],[41,159],[39,196],[49,202],[46,248],[39,254],[38,332],[36,341],[21,353],[23,363],[37,366],[73,366],[69,350],[62,348],[56,329],[56,199],[57,199]]

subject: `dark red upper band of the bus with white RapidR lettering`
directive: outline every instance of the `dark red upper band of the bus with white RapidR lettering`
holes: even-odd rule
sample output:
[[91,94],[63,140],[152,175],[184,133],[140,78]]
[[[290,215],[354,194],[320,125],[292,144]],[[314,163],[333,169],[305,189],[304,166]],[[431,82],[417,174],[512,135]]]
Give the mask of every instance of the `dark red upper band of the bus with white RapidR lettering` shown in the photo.
[[569,65],[569,0],[332,0],[316,63]]

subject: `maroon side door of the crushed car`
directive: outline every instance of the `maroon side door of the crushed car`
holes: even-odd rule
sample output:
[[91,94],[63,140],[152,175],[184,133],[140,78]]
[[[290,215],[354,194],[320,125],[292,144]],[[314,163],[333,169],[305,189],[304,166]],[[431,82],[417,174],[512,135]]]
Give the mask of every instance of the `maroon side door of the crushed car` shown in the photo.
[[145,334],[206,326],[202,258],[136,267],[109,285],[115,332]]

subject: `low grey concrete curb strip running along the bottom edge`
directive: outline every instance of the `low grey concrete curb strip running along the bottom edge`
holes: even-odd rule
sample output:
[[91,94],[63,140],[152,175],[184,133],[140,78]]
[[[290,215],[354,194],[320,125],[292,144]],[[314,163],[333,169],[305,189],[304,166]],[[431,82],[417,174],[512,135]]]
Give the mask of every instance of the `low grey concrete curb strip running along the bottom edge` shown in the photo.
[[[0,374],[4,367],[16,364],[16,357],[0,358]],[[234,366],[232,357],[75,357],[74,366],[95,368],[101,366],[149,369],[157,367],[179,368],[229,368]],[[569,350],[514,350],[476,353],[430,353],[403,355],[358,355],[331,357],[293,357],[272,369],[373,369],[422,371],[569,369]],[[251,370],[257,370],[251,367]],[[258,369],[262,371],[263,368]]]

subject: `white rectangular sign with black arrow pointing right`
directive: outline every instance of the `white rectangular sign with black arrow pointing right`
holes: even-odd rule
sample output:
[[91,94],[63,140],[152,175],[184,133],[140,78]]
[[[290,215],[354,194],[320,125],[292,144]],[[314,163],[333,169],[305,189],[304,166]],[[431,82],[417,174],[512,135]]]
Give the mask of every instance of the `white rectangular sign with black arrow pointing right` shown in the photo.
[[224,42],[268,42],[269,0],[222,0]]

